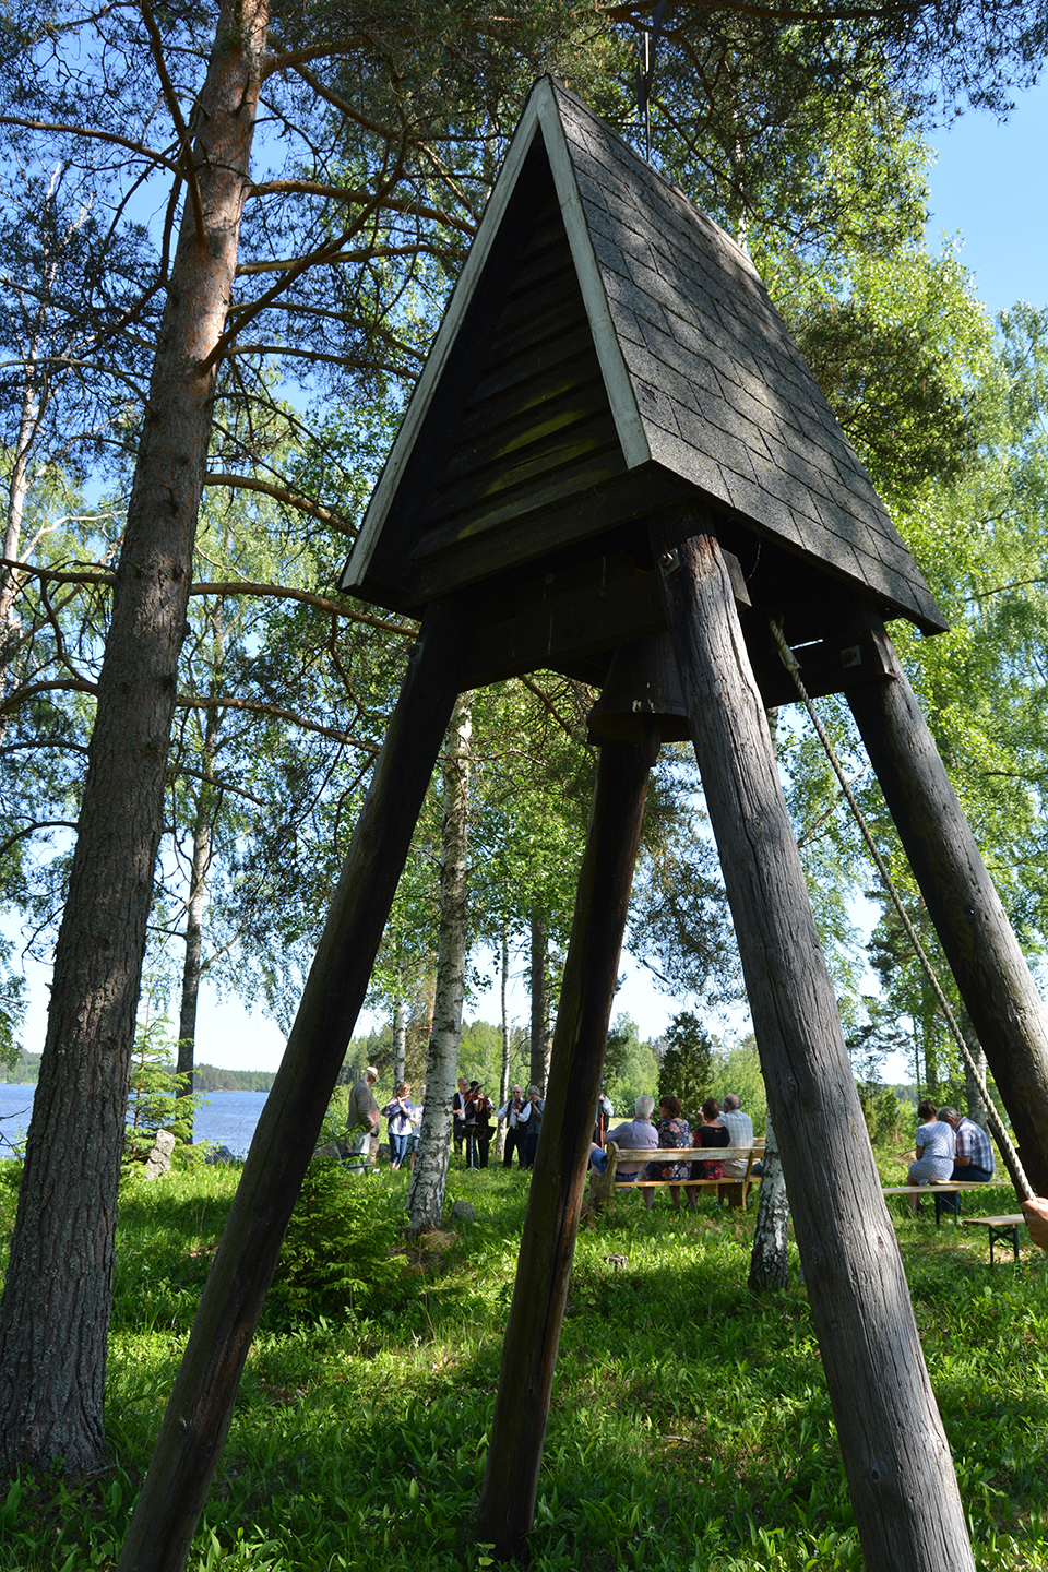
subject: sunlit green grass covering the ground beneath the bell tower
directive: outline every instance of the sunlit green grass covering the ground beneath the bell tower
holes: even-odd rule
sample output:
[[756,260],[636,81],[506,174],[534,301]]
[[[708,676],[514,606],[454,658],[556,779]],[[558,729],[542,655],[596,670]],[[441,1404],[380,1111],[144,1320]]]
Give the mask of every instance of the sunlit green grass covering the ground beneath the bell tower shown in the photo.
[[[129,1187],[107,1407],[116,1462],[74,1489],[14,1484],[3,1572],[115,1564],[236,1177],[206,1168]],[[399,1220],[407,1174],[355,1184],[369,1185],[376,1225]],[[468,1199],[478,1221],[404,1253],[399,1276],[338,1316],[259,1333],[193,1572],[487,1564],[473,1509],[526,1185],[501,1168],[454,1171],[448,1204]],[[1006,1195],[979,1210],[1012,1209]],[[977,1566],[1048,1567],[1048,1259],[1026,1245],[1018,1267],[990,1270],[980,1231],[892,1215]],[[624,1196],[583,1226],[533,1567],[861,1569],[797,1256],[793,1286],[754,1300],[751,1237],[753,1210],[705,1199],[674,1217]]]

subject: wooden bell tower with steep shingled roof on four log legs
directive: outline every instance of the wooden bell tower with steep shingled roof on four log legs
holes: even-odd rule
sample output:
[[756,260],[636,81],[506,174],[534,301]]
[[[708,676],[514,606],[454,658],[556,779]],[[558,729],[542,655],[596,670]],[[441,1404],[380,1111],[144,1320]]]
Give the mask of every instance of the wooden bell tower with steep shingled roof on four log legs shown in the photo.
[[[181,1567],[459,692],[669,635],[866,1563],[971,1550],[765,706],[845,692],[1048,1193],[1040,998],[885,623],[944,621],[746,255],[539,82],[343,590],[421,618],[121,1572]],[[621,660],[628,657],[622,657]],[[605,728],[478,1539],[531,1528],[654,729]]]

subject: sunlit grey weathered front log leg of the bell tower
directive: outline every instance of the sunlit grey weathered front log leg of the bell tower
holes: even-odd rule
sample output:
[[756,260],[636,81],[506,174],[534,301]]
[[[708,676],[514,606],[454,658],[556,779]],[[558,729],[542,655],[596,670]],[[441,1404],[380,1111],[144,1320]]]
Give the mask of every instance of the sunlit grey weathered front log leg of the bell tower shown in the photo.
[[650,533],[866,1566],[971,1569],[731,578],[698,508]]

